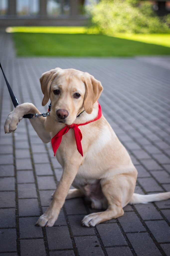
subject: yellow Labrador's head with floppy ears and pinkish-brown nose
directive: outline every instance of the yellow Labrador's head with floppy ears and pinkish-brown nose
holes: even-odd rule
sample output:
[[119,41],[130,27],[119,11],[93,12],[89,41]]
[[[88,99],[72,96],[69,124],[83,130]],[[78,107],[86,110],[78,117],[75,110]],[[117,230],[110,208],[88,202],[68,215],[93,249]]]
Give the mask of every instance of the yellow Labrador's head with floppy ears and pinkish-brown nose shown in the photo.
[[82,110],[91,114],[103,90],[100,81],[76,69],[52,69],[42,74],[40,83],[44,94],[42,105],[45,106],[50,98],[50,116],[68,125],[74,123]]

